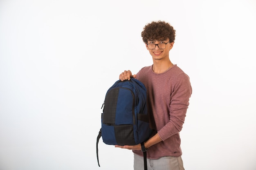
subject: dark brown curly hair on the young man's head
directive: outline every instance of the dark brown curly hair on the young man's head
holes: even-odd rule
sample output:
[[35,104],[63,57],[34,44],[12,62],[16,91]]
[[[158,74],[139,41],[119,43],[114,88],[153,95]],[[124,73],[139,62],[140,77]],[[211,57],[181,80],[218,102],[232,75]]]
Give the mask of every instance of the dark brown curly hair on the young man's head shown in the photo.
[[161,20],[153,21],[144,26],[141,37],[144,43],[148,43],[148,40],[166,40],[167,38],[169,38],[170,42],[174,42],[175,30],[167,22]]

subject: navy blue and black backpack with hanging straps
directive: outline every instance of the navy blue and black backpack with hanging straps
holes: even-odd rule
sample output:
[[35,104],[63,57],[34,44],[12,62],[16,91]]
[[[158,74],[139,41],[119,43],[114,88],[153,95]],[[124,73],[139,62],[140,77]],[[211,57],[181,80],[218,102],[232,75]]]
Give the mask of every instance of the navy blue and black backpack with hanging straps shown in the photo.
[[102,137],[103,142],[108,145],[141,144],[145,167],[146,149],[144,141],[149,139],[151,129],[144,84],[134,78],[124,81],[118,80],[108,89],[102,108],[101,129],[96,144],[98,164],[98,143]]

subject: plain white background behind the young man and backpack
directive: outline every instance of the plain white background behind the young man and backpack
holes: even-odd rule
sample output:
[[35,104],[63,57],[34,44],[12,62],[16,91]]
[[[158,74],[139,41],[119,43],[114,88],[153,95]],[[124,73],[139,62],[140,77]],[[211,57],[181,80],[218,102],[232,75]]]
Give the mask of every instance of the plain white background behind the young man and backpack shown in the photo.
[[119,74],[152,64],[146,23],[176,29],[170,59],[191,79],[186,170],[256,169],[255,0],[1,0],[0,170],[132,170],[99,142]]

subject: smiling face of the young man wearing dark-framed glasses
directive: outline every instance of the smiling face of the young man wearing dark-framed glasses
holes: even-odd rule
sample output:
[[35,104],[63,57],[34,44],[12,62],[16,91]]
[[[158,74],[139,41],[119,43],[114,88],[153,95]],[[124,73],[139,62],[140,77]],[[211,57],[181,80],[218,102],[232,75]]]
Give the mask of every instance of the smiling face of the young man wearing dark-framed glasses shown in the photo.
[[[148,40],[148,44],[146,44],[146,47],[150,53],[150,55],[153,57],[153,60],[162,60],[165,58],[169,58],[169,51],[173,48],[174,42],[169,42],[169,39],[167,40]],[[158,44],[157,46],[150,45],[150,44]],[[166,47],[164,48],[164,45],[166,44]]]

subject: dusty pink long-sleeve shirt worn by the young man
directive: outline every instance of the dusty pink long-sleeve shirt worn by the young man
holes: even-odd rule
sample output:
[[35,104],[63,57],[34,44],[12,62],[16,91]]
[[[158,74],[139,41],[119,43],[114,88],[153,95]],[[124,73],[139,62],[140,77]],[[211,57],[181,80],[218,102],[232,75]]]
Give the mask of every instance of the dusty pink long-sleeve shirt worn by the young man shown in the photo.
[[[181,156],[180,131],[184,124],[192,88],[189,76],[177,65],[164,73],[153,72],[152,66],[141,68],[137,73],[147,89],[150,127],[163,140],[148,148],[147,157],[158,159],[164,156]],[[134,153],[143,156],[140,150]]]

